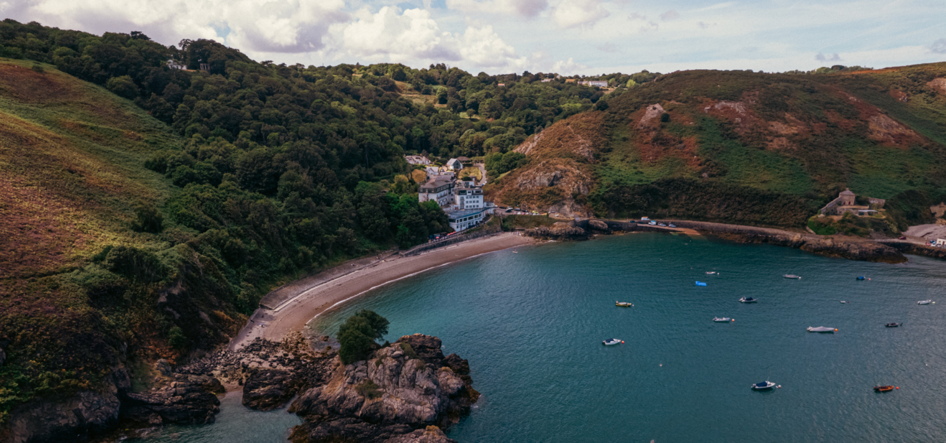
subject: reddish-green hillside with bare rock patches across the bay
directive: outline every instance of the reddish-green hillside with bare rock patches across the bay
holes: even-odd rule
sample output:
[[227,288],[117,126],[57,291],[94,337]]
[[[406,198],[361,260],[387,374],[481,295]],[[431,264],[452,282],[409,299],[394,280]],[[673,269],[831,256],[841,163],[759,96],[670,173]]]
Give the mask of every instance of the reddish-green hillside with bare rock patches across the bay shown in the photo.
[[[846,187],[891,199],[902,224],[929,214],[906,216],[898,201],[920,207],[946,190],[946,63],[686,71],[596,109],[594,122],[572,116],[520,145],[528,164],[490,194],[537,209],[800,227]],[[587,179],[550,186],[550,164]]]

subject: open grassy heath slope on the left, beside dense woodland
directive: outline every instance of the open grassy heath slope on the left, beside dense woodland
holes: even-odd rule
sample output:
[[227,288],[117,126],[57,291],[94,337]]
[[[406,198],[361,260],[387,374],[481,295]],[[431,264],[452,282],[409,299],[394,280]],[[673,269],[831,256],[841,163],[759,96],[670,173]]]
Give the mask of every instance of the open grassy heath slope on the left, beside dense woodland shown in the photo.
[[[134,315],[119,312],[118,300],[96,306],[96,294],[126,283],[96,255],[107,246],[168,247],[133,229],[135,208],[173,194],[144,162],[181,144],[130,101],[51,66],[26,66],[0,60],[0,348],[8,357],[0,419],[34,396],[94,386],[123,341],[147,346],[166,333],[153,303]],[[131,332],[137,325],[145,327]]]

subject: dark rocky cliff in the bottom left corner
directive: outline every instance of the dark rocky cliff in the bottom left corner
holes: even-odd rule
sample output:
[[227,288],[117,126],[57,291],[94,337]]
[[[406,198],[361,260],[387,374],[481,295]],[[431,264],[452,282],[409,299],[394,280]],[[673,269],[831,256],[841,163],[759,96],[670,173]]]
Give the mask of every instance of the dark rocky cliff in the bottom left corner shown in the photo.
[[23,405],[9,414],[0,438],[11,443],[71,442],[108,431],[118,421],[120,392],[131,387],[131,380],[125,368],[119,366],[104,382],[98,391]]

